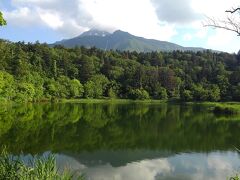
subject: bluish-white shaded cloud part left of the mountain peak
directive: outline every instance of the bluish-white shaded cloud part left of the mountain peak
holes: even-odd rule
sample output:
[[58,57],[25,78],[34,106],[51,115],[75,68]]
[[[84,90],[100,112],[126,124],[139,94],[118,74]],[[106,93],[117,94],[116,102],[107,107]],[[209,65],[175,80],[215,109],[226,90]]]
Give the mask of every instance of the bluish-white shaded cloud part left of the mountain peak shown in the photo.
[[93,27],[83,0],[12,0],[14,10],[4,12],[9,24],[47,26],[69,38]]

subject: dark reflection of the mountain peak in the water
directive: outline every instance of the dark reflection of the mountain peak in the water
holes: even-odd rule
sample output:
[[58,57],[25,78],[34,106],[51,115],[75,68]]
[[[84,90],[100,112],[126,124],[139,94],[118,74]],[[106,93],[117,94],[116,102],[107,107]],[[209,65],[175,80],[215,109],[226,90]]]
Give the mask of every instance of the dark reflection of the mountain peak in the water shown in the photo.
[[86,166],[111,164],[113,167],[145,159],[157,159],[172,156],[174,153],[153,150],[100,150],[94,152],[65,153]]

